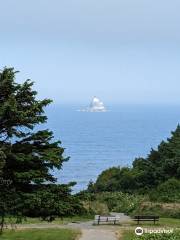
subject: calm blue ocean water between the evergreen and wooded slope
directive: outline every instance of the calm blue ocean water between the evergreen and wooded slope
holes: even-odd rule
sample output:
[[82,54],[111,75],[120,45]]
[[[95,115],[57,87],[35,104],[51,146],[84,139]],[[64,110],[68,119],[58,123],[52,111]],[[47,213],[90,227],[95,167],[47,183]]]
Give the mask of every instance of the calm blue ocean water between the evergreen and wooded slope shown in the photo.
[[85,189],[103,170],[131,166],[136,157],[145,157],[180,122],[180,106],[114,105],[104,113],[77,109],[52,105],[47,110],[47,127],[70,156],[54,174],[60,183],[76,181],[75,192]]

